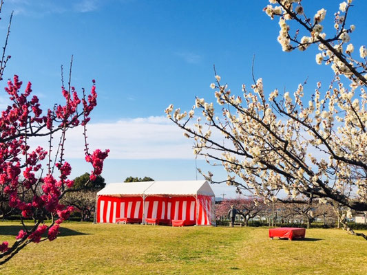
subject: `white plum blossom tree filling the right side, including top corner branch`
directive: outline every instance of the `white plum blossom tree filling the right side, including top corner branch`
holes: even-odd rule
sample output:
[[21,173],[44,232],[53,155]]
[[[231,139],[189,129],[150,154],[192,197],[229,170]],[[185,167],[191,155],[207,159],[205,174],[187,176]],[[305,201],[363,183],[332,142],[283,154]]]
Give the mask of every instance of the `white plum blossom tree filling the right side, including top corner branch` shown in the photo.
[[[242,96],[236,96],[216,75],[210,87],[220,115],[213,103],[196,98],[189,113],[170,105],[167,117],[194,140],[195,154],[227,170],[227,184],[239,192],[249,190],[272,201],[297,202],[306,196],[367,211],[367,50],[360,45],[355,54],[350,43],[355,26],[348,26],[346,19],[352,1],[340,3],[335,34],[328,36],[323,32],[324,8],[310,17],[302,0],[269,2],[264,12],[279,19],[282,50],[304,51],[315,44],[316,63],[333,69],[331,83],[317,83],[305,102],[306,83],[298,85],[293,96],[280,95],[277,89],[266,96],[259,78],[251,89],[242,85]],[[291,24],[299,30],[292,33]],[[191,123],[198,111],[202,118]],[[205,177],[218,182],[211,173]]]

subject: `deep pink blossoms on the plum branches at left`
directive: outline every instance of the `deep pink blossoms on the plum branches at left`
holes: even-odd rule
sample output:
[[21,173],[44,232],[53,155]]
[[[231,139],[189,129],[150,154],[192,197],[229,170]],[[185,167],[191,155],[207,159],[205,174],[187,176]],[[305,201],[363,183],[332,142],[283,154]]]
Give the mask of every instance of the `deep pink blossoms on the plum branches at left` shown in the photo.
[[[59,234],[60,224],[70,217],[74,210],[72,206],[64,206],[60,203],[59,197],[67,188],[72,188],[74,181],[70,177],[72,166],[63,159],[63,154],[56,161],[56,168],[60,172],[59,180],[56,175],[52,175],[52,163],[49,161],[49,169],[42,166],[43,159],[48,159],[48,152],[41,146],[30,150],[29,138],[38,129],[67,130],[74,126],[85,125],[90,121],[90,112],[96,107],[96,87],[94,85],[87,99],[79,98],[76,89],[71,87],[67,91],[62,87],[62,94],[65,98],[63,104],[55,106],[54,110],[48,109],[45,115],[37,96],[31,96],[32,84],[28,83],[24,92],[21,89],[21,81],[17,75],[8,81],[5,88],[12,104],[0,113],[0,137],[3,142],[0,144],[0,186],[2,196],[8,201],[11,208],[21,212],[22,217],[32,217],[36,222],[43,221],[45,214],[57,215],[55,224],[48,228],[48,225],[39,225],[34,232],[20,230],[16,239],[23,242],[25,238],[34,243],[39,243],[43,234],[47,233],[47,238],[52,241]],[[80,108],[80,105],[83,105]],[[81,113],[80,110],[84,113]],[[83,120],[81,120],[83,118]],[[26,131],[26,132],[25,132]],[[45,131],[47,134],[48,131]],[[27,135],[25,135],[27,133]],[[50,133],[53,135],[53,133]],[[50,149],[52,137],[50,137]],[[63,152],[64,148],[61,149]],[[87,152],[87,151],[86,151]],[[63,152],[64,153],[64,152]],[[100,175],[103,168],[103,161],[107,157],[108,151],[97,150],[92,155],[87,154],[85,160],[93,166],[94,173],[91,177]],[[59,155],[60,156],[60,155]],[[48,171],[44,177],[39,170]],[[31,197],[23,196],[21,190],[36,190]],[[40,194],[41,193],[41,194]],[[0,245],[0,252],[7,251],[8,242]]]

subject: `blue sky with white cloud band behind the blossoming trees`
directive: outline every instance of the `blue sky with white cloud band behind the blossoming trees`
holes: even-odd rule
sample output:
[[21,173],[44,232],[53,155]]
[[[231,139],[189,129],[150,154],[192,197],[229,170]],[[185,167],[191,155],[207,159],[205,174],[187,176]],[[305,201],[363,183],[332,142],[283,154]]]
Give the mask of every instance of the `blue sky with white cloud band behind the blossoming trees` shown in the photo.
[[[355,48],[366,37],[366,1],[355,0],[349,23]],[[0,37],[14,10],[6,78],[31,81],[43,107],[60,102],[60,65],[74,54],[73,85],[88,89],[96,79],[98,107],[89,136],[94,148],[110,148],[103,177],[122,181],[130,175],[159,180],[195,179],[189,140],[165,119],[165,108],[190,109],[195,96],[211,100],[213,65],[222,80],[240,93],[242,83],[264,79],[266,91],[293,91],[308,77],[311,96],[318,80],[327,85],[331,69],[316,65],[317,50],[284,53],[276,41],[277,21],[262,12],[268,1],[8,0],[3,5]],[[304,1],[306,12],[326,8],[332,23],[339,1]],[[332,26],[332,25],[331,25]],[[329,30],[329,31],[328,31]],[[326,28],[326,34],[332,34]],[[5,82],[1,83],[3,87]],[[4,95],[0,95],[0,104]],[[81,160],[77,131],[69,138],[73,176],[90,167]],[[79,138],[80,137],[80,138]],[[80,152],[80,153],[79,153]],[[198,166],[208,167],[202,160]],[[209,168],[210,170],[213,170]],[[218,179],[222,169],[213,170]],[[200,176],[199,176],[200,179]],[[233,188],[214,188],[235,196]]]

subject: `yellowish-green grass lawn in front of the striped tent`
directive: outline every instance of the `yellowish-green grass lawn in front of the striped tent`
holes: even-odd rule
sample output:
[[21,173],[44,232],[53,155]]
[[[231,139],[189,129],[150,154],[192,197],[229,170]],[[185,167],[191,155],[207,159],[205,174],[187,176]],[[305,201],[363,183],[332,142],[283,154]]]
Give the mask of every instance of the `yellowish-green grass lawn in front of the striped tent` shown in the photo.
[[[17,225],[0,222],[0,242]],[[271,240],[268,230],[63,223],[58,239],[28,245],[0,274],[367,274],[361,237],[309,229],[304,241]]]

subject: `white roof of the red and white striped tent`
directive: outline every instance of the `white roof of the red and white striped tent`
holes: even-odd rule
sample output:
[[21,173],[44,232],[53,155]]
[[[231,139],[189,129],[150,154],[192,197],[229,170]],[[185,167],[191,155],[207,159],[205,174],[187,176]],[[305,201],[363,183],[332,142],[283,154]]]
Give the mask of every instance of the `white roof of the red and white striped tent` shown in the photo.
[[140,181],[107,184],[98,196],[126,197],[131,195],[207,195],[214,196],[209,183],[200,181]]

